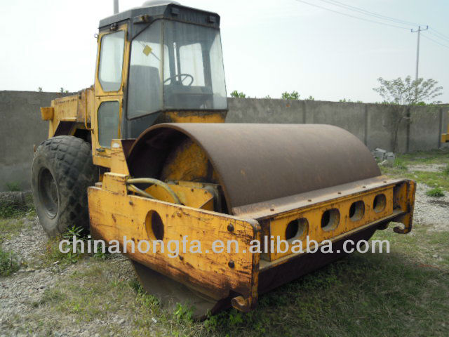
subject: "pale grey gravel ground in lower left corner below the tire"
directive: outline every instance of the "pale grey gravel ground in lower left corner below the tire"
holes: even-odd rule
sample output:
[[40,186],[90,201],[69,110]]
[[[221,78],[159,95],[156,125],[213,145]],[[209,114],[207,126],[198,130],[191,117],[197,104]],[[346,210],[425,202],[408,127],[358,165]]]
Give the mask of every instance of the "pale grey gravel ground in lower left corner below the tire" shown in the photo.
[[[37,218],[34,220],[23,218],[21,221],[24,225],[20,234],[1,244],[1,248],[5,251],[15,252],[22,265],[15,274],[9,277],[0,277],[0,337],[116,336],[116,334],[105,334],[104,331],[117,325],[121,326],[123,330],[128,329],[128,324],[131,322],[115,315],[108,316],[104,320],[93,319],[91,322],[80,323],[72,317],[48,317],[45,309],[39,308],[45,291],[58,289],[58,284],[67,280],[74,273],[89,270],[92,262],[86,260],[65,267],[53,263],[50,267],[43,267],[40,259],[48,241],[46,234]],[[133,275],[130,263],[125,256],[115,254],[108,260],[108,263],[119,264],[119,270],[122,270],[124,275]],[[32,321],[29,317],[33,317]],[[39,324],[46,322],[48,326],[51,319],[64,322],[64,327],[52,329],[51,334],[48,334],[48,331],[42,331]],[[125,335],[119,334],[119,336]]]

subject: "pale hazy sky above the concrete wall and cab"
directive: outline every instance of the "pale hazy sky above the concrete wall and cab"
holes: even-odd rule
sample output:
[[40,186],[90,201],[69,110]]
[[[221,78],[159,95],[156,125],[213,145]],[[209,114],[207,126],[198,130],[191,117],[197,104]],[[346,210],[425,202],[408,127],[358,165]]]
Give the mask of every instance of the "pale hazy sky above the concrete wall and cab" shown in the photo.
[[[298,91],[315,100],[382,99],[377,78],[415,77],[417,33],[331,4],[303,0],[178,0],[220,14],[227,93],[279,98]],[[120,11],[144,0],[120,0]],[[338,0],[390,18],[416,22],[422,32],[419,76],[443,86],[449,103],[448,0]],[[0,2],[0,90],[79,91],[93,84],[98,22],[113,14],[113,0]],[[434,29],[434,30],[432,30]],[[440,39],[437,32],[448,39]],[[429,40],[434,39],[434,41]],[[444,46],[441,46],[443,44]]]

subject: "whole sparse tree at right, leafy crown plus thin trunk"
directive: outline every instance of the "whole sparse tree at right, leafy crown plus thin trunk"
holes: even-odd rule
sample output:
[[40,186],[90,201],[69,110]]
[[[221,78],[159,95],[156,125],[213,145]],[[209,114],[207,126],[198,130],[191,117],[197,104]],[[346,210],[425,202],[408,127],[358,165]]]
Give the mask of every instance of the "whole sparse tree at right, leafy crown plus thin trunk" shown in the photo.
[[[393,152],[398,149],[398,131],[402,121],[410,120],[410,105],[425,105],[424,101],[431,101],[442,95],[442,86],[437,86],[434,79],[422,78],[413,81],[410,76],[406,79],[386,80],[379,77],[380,86],[373,90],[382,96],[384,104],[391,104],[391,148]],[[441,102],[431,101],[431,104]]]

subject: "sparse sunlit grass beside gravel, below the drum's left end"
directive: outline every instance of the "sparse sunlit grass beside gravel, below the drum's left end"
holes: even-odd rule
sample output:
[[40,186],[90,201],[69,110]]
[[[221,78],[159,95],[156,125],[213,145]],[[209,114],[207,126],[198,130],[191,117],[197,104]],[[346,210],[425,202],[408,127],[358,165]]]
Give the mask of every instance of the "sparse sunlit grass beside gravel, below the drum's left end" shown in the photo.
[[[39,328],[43,334],[53,336],[53,331],[76,324],[91,326],[91,329],[86,328],[88,336],[96,332],[101,336],[109,336],[109,333],[112,336],[148,336],[140,334],[141,331],[149,331],[152,336],[167,336],[161,325],[164,314],[156,312],[159,310],[157,300],[142,291],[132,268],[126,261],[123,265],[123,259],[83,259],[76,264],[72,275],[60,279],[57,287],[46,289],[32,307],[34,312],[24,317],[24,331]],[[158,315],[158,326],[154,326],[151,319],[153,310],[156,310],[154,315]],[[41,319],[43,312],[60,318]],[[122,318],[126,321],[124,324],[119,322]],[[106,321],[109,324],[102,326]],[[43,325],[39,327],[38,322]],[[148,330],[150,322],[152,326]],[[142,329],[136,328],[140,324]]]

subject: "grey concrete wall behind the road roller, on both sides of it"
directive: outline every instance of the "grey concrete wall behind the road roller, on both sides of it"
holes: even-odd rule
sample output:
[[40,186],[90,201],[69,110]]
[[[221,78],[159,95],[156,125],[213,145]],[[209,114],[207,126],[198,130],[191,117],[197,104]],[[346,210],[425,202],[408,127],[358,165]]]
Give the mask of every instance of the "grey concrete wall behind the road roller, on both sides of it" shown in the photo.
[[[0,191],[18,182],[29,189],[33,145],[47,138],[48,123],[39,107],[60,93],[0,91]],[[311,100],[229,98],[227,123],[333,124],[354,133],[370,150],[393,150],[394,108],[387,105]],[[448,125],[449,105],[413,107],[398,129],[398,152],[438,149]]]

